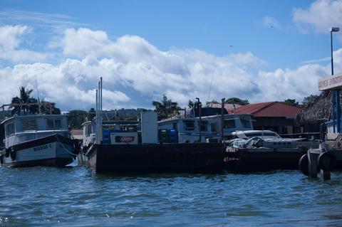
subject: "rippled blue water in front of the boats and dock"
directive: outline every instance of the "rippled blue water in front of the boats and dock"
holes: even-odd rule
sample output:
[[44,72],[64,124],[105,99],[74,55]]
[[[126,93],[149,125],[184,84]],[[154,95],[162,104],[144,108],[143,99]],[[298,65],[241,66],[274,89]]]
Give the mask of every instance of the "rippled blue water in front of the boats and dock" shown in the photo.
[[0,167],[0,226],[342,226],[342,172],[96,175]]

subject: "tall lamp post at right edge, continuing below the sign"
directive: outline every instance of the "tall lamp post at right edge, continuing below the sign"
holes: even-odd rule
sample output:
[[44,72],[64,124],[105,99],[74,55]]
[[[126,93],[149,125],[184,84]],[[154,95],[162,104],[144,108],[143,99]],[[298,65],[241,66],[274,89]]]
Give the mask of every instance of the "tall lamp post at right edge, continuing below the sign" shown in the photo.
[[[333,32],[340,31],[340,28],[330,28],[330,43],[331,43],[331,75],[333,75]],[[333,132],[335,133],[335,99],[336,99],[336,120],[337,132],[341,132],[341,117],[340,117],[340,91],[333,90],[332,94],[332,108],[333,108]]]

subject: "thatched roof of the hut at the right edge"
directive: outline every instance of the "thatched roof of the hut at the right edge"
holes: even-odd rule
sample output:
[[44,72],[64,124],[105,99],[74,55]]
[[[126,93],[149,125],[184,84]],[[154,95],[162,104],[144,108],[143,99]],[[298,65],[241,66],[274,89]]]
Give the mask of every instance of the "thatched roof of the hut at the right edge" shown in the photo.
[[302,107],[296,116],[296,122],[299,125],[316,124],[326,122],[331,117],[331,93],[324,91],[317,99],[311,100]]

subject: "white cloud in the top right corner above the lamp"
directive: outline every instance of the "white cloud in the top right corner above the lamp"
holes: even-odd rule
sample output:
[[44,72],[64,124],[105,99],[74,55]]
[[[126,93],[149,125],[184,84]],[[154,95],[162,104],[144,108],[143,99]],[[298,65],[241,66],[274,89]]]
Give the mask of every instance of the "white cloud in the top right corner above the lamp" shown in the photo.
[[314,28],[327,33],[331,27],[342,26],[342,1],[317,0],[309,9],[294,9],[293,21],[300,31]]

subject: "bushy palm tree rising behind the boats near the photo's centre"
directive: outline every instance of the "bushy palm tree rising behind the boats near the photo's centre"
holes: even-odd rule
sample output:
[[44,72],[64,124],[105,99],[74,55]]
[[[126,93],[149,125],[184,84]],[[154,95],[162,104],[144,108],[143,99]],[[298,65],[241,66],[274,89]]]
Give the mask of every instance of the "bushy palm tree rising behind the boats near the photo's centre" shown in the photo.
[[155,111],[157,111],[158,120],[174,117],[180,111],[178,103],[167,99],[165,94],[162,95],[161,102],[152,101],[152,105],[155,107]]

